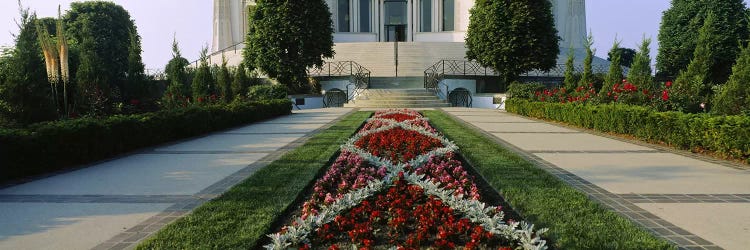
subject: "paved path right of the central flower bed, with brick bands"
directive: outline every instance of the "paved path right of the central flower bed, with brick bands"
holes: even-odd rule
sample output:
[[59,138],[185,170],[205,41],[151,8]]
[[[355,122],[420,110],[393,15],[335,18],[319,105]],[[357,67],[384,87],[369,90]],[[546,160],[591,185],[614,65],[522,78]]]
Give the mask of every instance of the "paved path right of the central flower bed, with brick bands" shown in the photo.
[[748,249],[750,170],[495,110],[445,108],[684,249]]

